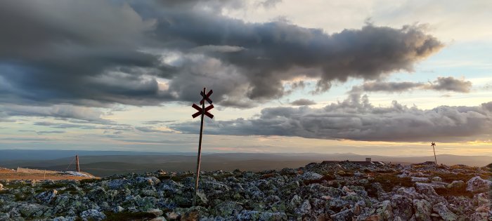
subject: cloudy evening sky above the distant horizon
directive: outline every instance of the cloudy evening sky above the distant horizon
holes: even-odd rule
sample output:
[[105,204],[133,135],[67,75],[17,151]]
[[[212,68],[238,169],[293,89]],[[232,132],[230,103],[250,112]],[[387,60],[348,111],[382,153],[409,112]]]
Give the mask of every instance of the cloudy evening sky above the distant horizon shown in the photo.
[[492,2],[0,3],[0,149],[492,156]]

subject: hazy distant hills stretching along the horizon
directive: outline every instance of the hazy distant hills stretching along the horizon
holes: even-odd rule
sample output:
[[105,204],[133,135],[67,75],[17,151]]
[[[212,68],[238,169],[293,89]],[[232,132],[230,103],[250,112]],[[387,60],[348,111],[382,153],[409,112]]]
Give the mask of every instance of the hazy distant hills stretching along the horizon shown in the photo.
[[[15,155],[14,159],[6,159],[8,154]],[[43,150],[36,159],[32,154],[23,155],[27,150],[0,150],[0,166],[6,168],[39,168],[46,170],[75,170],[73,156],[79,154],[82,170],[96,176],[112,175],[115,173],[143,173],[153,170],[194,171],[196,155],[190,153],[148,153],[148,152],[77,152]],[[17,153],[17,154],[16,154]],[[48,154],[52,154],[51,158]],[[67,155],[72,154],[72,155]],[[94,154],[94,155],[85,155]],[[25,157],[22,157],[25,156]],[[62,156],[53,159],[53,156]],[[394,157],[357,154],[251,154],[225,153],[203,154],[202,170],[270,170],[281,168],[298,168],[311,162],[321,161],[364,161],[370,157],[373,161],[391,163],[421,163],[434,161],[434,156]],[[48,159],[46,159],[48,158]],[[457,156],[442,154],[437,156],[438,163],[447,165],[465,164],[468,166],[486,166],[492,162],[492,156]],[[72,162],[70,168],[67,168]]]

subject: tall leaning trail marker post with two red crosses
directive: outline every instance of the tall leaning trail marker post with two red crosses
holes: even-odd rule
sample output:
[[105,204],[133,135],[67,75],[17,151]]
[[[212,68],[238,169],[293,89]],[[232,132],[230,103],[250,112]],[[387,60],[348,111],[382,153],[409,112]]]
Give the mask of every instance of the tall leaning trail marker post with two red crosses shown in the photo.
[[[202,100],[200,100],[200,105],[202,105],[202,107],[199,107],[198,105],[195,104],[191,105],[191,107],[195,108],[198,111],[191,116],[193,116],[193,118],[200,115],[202,116],[202,121],[200,121],[200,140],[198,140],[197,171],[196,171],[196,178],[195,178],[195,194],[193,194],[193,206],[196,205],[198,178],[200,178],[200,161],[202,160],[203,118],[204,116],[208,116],[210,119],[214,118],[214,115],[208,112],[209,110],[214,108],[214,105],[212,105],[212,100],[210,100],[210,95],[212,95],[213,92],[214,91],[210,90],[207,93],[207,88],[203,88],[203,91],[200,92],[200,95],[202,95]],[[209,103],[208,107],[205,107],[205,102]]]

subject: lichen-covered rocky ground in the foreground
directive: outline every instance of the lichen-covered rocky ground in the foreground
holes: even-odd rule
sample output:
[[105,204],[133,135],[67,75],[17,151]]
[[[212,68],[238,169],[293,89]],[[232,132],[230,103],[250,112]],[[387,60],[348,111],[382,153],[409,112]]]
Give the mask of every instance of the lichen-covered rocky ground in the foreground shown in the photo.
[[0,180],[0,220],[492,220],[491,168],[348,161],[258,173]]

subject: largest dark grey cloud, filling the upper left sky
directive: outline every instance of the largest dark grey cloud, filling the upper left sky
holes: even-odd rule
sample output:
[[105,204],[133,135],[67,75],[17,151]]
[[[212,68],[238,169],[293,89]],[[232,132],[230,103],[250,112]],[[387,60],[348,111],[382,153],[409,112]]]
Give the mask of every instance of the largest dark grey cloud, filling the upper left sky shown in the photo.
[[[265,1],[271,6],[276,1]],[[280,98],[283,82],[379,79],[439,51],[417,26],[365,25],[327,34],[287,22],[221,15],[242,1],[0,3],[0,102],[107,107],[195,101],[223,106]],[[174,56],[174,57],[173,57]]]

